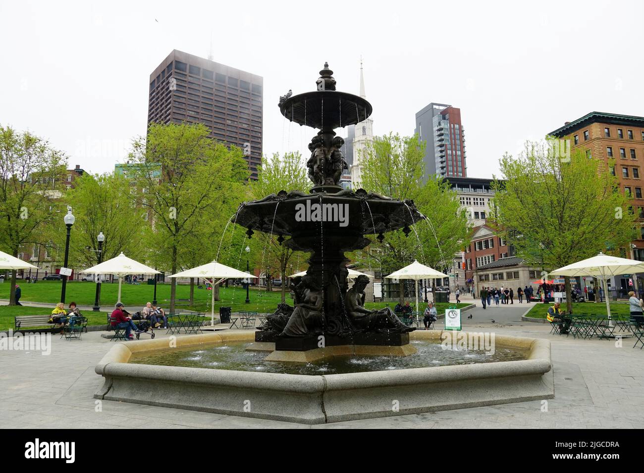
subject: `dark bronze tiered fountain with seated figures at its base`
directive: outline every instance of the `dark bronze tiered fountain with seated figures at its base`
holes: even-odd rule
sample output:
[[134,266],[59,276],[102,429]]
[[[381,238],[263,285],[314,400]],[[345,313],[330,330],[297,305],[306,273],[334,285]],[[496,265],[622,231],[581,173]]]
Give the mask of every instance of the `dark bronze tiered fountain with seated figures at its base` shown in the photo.
[[341,153],[343,140],[334,129],[363,122],[372,106],[365,98],[337,91],[332,74],[325,63],[316,91],[292,97],[289,91],[279,100],[279,110],[288,120],[319,129],[308,145],[308,176],[314,183],[310,193],[281,190],[243,203],[233,217],[247,228],[249,237],[254,232],[276,235],[280,244],[311,253],[307,274],[291,281],[294,306],[279,304],[256,332],[256,345],[273,351],[267,359],[304,360],[290,355],[310,351],[308,361],[328,356],[330,351],[325,354],[324,349],[329,347],[349,348],[346,354],[352,346],[372,347],[374,354],[415,351],[408,346],[413,328],[389,308],[365,309],[368,278],[361,276],[348,288],[345,252],[372,243],[365,235],[382,241],[383,234],[393,230],[409,234],[410,225],[422,216],[411,200],[339,185],[346,161]]

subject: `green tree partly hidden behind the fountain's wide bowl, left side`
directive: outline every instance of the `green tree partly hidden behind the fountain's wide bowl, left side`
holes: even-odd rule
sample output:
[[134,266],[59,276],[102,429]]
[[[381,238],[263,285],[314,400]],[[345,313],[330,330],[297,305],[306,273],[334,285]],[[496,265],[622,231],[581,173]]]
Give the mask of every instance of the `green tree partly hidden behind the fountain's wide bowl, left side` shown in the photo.
[[[250,185],[250,193],[252,199],[261,199],[270,194],[277,194],[280,190],[306,191],[310,187],[312,183],[308,180],[307,169],[301,154],[286,153],[279,156],[275,153],[272,158],[264,158],[258,170],[258,180]],[[279,243],[275,235],[258,232],[255,236],[253,237],[256,241],[254,248],[256,253],[261,252],[261,257],[256,257],[255,261],[259,262],[260,270],[267,274],[267,290],[270,290],[269,276],[279,274],[282,281],[281,301],[285,302],[287,268],[290,268],[294,255],[301,259],[305,259],[306,256],[298,255],[301,252],[296,252]]]

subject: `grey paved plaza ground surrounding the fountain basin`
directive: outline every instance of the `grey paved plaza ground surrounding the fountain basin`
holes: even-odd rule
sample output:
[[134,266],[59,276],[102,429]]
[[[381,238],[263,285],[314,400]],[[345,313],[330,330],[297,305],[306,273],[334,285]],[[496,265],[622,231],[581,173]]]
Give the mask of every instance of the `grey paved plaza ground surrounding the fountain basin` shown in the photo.
[[[463,298],[462,302],[471,301]],[[527,304],[493,306],[480,301],[463,316],[463,329],[551,340],[555,398],[491,407],[302,425],[223,414],[102,401],[93,394],[102,384],[94,373],[113,342],[100,332],[82,340],[52,337],[52,353],[0,351],[0,425],[5,428],[642,428],[644,427],[644,350],[624,339],[575,340],[549,335],[549,324],[522,322]],[[495,320],[495,323],[492,322]],[[440,328],[440,320],[437,322]],[[157,337],[167,337],[157,331]],[[136,342],[129,342],[136,343]],[[153,396],[153,393],[151,393]]]

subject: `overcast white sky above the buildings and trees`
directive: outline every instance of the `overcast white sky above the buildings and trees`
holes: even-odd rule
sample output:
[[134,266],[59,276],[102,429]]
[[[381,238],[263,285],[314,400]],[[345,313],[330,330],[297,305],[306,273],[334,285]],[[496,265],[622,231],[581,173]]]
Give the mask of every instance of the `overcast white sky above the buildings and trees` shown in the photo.
[[[0,124],[29,129],[90,172],[144,134],[149,74],[173,49],[264,78],[264,153],[315,131],[279,114],[325,61],[357,93],[365,60],[374,133],[413,134],[430,102],[460,107],[468,176],[590,111],[644,115],[641,1],[0,0]],[[340,136],[346,131],[336,130]]]

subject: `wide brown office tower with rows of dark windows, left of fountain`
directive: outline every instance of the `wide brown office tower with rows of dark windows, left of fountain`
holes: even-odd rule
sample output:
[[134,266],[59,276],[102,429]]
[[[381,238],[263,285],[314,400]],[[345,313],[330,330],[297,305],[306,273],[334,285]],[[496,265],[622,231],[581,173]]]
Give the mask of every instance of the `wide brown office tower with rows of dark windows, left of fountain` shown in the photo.
[[263,78],[173,50],[150,75],[147,124],[202,123],[240,147],[257,179],[261,163]]

